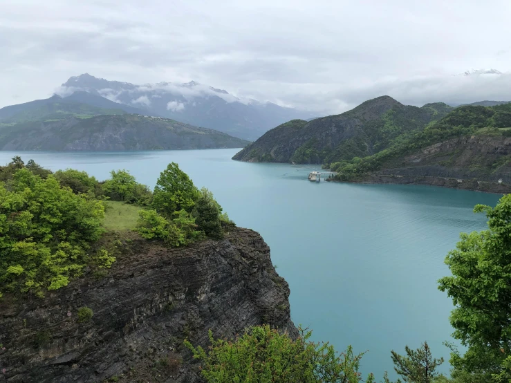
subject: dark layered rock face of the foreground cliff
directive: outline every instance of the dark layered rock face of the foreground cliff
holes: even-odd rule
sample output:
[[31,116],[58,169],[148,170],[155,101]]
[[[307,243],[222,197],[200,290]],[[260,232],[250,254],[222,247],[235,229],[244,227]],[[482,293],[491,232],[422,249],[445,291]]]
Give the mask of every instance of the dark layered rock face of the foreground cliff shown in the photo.
[[[187,337],[232,337],[268,323],[297,335],[289,288],[261,236],[167,249],[120,244],[107,275],[87,272],[44,299],[0,301],[0,382],[201,382]],[[82,307],[93,310],[80,322]]]

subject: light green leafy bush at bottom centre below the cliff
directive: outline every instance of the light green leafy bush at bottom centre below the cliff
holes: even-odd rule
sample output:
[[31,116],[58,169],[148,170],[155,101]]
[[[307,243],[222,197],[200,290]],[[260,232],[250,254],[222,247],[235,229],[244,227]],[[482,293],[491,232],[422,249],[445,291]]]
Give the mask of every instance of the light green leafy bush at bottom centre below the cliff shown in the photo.
[[[296,340],[270,326],[255,326],[234,341],[214,339],[206,352],[185,340],[194,358],[203,362],[207,382],[363,382],[358,372],[364,353],[355,355],[351,346],[337,354],[330,344],[310,342],[310,331],[301,331]],[[373,382],[370,374],[365,382]]]

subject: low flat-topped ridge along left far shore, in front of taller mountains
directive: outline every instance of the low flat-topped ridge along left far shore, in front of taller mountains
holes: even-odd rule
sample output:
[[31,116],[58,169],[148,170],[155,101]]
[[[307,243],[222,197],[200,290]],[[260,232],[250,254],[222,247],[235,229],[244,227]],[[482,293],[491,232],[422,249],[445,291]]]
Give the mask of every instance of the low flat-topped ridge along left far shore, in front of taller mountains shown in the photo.
[[212,129],[133,114],[26,121],[0,128],[1,150],[216,149],[248,143]]

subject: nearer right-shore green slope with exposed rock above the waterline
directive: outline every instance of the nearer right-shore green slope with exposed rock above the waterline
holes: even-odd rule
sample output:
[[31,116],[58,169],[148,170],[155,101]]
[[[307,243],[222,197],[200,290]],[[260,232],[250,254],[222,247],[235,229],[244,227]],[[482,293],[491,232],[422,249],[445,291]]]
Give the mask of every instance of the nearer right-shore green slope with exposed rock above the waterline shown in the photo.
[[[460,106],[373,156],[331,164],[336,180],[511,192],[511,104]],[[499,182],[500,180],[500,182]]]

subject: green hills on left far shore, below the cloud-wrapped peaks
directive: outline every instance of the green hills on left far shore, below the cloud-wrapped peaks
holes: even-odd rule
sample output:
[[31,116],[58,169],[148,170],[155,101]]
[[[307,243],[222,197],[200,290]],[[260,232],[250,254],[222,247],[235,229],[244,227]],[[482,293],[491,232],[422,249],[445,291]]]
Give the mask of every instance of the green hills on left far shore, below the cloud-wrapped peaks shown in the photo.
[[239,148],[249,142],[76,91],[0,109],[0,150]]

